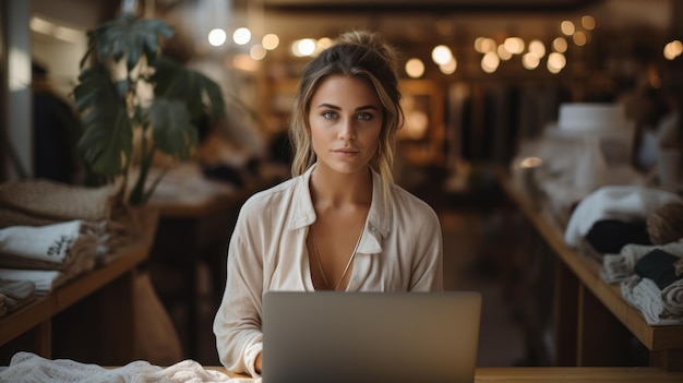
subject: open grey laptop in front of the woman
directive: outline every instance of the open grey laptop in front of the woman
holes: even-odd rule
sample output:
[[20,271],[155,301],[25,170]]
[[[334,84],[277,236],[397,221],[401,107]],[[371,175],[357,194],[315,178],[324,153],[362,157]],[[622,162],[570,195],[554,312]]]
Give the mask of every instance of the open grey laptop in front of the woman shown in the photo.
[[471,383],[480,315],[477,291],[268,291],[263,383]]

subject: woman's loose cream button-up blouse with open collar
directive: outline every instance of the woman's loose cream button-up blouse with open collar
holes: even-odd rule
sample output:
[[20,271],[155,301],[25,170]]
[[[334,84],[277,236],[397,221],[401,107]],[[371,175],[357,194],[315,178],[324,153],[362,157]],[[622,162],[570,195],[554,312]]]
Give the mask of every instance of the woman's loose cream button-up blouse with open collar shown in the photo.
[[[305,173],[252,195],[239,213],[228,247],[223,301],[214,320],[220,362],[257,376],[262,349],[261,300],[268,290],[314,291],[305,238],[315,222]],[[392,189],[372,170],[372,202],[346,291],[443,290],[442,231],[435,212],[406,190]]]

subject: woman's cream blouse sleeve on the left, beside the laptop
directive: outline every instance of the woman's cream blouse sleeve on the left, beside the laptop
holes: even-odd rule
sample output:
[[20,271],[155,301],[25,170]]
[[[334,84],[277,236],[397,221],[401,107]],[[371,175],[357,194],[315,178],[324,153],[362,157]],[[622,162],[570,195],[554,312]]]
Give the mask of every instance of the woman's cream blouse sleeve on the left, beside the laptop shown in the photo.
[[263,337],[263,261],[259,241],[254,240],[259,235],[250,230],[248,215],[243,213],[244,210],[228,246],[226,288],[213,328],[220,363],[228,371],[257,376],[254,361],[261,352]]

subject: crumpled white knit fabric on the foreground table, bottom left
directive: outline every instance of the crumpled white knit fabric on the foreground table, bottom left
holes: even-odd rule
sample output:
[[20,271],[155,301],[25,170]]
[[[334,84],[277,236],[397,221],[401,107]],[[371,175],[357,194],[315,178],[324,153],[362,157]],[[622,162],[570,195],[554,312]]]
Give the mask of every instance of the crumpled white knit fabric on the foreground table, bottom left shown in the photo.
[[104,368],[71,359],[45,359],[32,352],[16,352],[10,366],[0,370],[1,382],[13,383],[255,383],[259,380],[230,378],[205,370],[194,360],[183,360],[167,368],[136,360],[119,368]]

